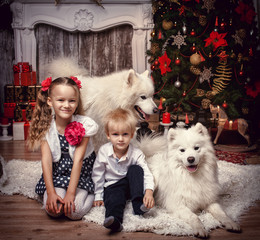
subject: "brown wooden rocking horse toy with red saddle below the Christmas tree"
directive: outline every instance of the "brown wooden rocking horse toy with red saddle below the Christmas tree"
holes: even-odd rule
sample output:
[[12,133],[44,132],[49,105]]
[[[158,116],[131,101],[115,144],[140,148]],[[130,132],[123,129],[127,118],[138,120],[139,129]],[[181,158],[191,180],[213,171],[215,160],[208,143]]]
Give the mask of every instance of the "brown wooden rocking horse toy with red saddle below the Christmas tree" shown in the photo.
[[[248,123],[243,118],[238,118],[233,121],[228,121],[228,116],[225,113],[224,109],[219,106],[214,106],[210,104],[210,112],[213,119],[218,119],[218,131],[213,143],[216,145],[218,138],[223,131],[223,129],[237,130],[247,141],[248,146],[250,146],[250,137],[247,133]],[[217,118],[218,115],[218,118]]]

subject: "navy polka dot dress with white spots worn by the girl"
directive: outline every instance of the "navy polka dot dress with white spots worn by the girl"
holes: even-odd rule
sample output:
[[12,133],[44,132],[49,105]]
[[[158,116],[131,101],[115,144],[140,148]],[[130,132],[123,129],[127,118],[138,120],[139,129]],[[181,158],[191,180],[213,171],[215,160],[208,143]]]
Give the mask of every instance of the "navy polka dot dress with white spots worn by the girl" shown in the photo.
[[[53,163],[53,185],[54,187],[67,189],[70,182],[70,175],[73,166],[73,160],[69,155],[69,143],[65,136],[59,134],[61,146],[61,159]],[[83,160],[80,173],[78,188],[84,189],[89,193],[94,193],[94,183],[92,181],[92,168],[96,159],[95,152]],[[46,190],[43,175],[35,187],[35,192],[43,195]]]

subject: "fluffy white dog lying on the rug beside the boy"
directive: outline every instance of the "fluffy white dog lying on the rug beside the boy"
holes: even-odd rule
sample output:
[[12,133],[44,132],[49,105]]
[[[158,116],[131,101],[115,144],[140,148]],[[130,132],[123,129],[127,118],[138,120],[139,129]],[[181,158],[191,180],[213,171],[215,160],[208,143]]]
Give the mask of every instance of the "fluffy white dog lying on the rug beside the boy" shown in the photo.
[[240,230],[218,203],[217,158],[201,123],[189,129],[172,128],[167,139],[144,138],[138,145],[147,154],[154,175],[156,204],[190,224],[199,237],[208,236],[196,215],[202,210],[210,212],[227,230]]

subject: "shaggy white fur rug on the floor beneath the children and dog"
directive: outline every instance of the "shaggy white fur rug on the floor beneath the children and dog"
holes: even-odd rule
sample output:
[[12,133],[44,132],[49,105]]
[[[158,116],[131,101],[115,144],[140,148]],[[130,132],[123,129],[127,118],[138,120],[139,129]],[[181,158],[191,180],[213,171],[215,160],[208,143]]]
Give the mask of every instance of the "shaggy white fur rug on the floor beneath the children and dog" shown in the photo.
[[[4,175],[0,179],[0,191],[3,194],[22,194],[41,201],[34,193],[34,187],[41,175],[40,161],[12,160],[4,164]],[[260,165],[236,165],[219,161],[219,181],[223,189],[221,204],[227,214],[235,221],[256,200],[260,199]],[[173,203],[174,204],[174,203]],[[209,213],[202,212],[200,219],[207,230],[220,226]],[[84,221],[102,225],[104,207],[92,208],[84,217]],[[124,216],[124,231],[145,231],[157,234],[191,235],[191,228],[183,221],[173,218],[158,207],[153,208],[144,217],[132,214],[131,204],[128,203]]]

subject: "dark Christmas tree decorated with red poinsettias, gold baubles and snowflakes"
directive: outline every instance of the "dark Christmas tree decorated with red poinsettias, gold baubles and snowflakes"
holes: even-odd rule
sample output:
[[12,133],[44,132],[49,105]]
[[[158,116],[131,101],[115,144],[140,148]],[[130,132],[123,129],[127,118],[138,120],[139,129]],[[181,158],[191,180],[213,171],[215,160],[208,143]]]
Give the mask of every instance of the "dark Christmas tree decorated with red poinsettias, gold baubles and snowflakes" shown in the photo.
[[[156,97],[172,115],[209,105],[246,118],[258,94],[252,0],[153,0],[147,51]],[[257,88],[257,89],[256,89]]]

